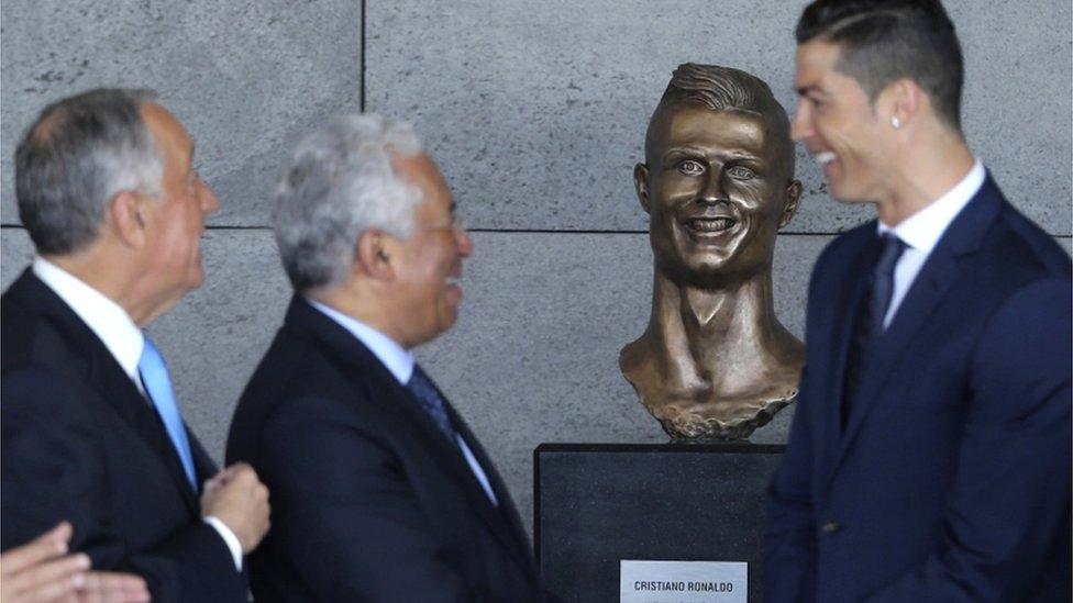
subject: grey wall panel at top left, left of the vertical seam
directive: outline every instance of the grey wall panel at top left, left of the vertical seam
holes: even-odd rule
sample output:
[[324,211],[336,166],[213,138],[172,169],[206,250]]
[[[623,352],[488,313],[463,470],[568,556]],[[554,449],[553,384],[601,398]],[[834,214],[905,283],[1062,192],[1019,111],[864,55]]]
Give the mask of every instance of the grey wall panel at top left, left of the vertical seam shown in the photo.
[[353,0],[3,2],[0,174],[18,223],[12,156],[53,100],[98,86],[157,90],[197,142],[223,202],[212,224],[268,222],[268,199],[298,137],[358,110],[361,3]]

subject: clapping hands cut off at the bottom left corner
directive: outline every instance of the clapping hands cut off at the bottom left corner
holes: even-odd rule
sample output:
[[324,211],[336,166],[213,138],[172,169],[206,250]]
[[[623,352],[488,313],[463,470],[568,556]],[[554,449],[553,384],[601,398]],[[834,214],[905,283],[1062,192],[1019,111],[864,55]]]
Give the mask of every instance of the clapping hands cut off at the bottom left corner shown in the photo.
[[89,557],[67,555],[71,527],[60,523],[33,541],[0,554],[0,603],[145,603],[142,578],[88,571]]

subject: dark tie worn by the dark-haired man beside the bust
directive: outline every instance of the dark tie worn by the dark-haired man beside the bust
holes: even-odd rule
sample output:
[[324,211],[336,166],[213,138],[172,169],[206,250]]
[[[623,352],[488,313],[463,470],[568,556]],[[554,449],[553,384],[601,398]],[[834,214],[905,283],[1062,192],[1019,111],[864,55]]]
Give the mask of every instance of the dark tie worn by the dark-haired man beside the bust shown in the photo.
[[867,371],[875,339],[883,333],[883,319],[891,308],[891,297],[894,294],[894,268],[898,265],[905,243],[894,233],[887,232],[881,236],[883,249],[880,259],[872,271],[872,290],[869,294],[867,306],[858,316],[853,330],[853,347],[845,367],[845,395],[842,400],[842,428],[849,424],[853,399],[861,387],[861,380]]

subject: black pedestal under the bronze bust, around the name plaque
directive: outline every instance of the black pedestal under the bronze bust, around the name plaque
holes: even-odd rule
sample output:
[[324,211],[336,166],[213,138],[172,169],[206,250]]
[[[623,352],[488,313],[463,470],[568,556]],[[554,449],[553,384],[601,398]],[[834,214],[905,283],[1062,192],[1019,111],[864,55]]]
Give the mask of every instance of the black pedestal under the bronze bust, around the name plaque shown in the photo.
[[764,494],[784,446],[542,444],[533,533],[549,588],[619,601],[619,562],[744,561],[763,601]]

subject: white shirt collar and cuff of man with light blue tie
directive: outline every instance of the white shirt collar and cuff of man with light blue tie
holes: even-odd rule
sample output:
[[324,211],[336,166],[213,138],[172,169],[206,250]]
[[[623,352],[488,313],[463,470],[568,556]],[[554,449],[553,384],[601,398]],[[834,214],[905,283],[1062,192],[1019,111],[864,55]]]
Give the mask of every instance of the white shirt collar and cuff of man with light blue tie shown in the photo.
[[[126,311],[100,291],[47,259],[35,258],[32,270],[34,276],[59,295],[59,299],[64,300],[64,303],[97,335],[144,397],[145,389],[137,372],[137,361],[142,358],[145,336]],[[146,403],[151,402],[146,399]],[[242,544],[239,538],[215,515],[204,517],[204,523],[220,534],[231,551],[235,569],[242,571]]]

